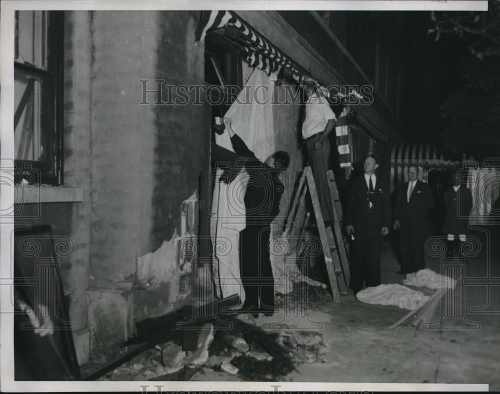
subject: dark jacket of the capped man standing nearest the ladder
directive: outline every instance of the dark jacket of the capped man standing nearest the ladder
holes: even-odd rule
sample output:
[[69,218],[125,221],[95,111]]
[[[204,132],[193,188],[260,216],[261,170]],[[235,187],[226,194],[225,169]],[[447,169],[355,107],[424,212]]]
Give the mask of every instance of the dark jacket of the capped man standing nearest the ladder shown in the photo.
[[[369,207],[369,200],[373,203]],[[346,225],[354,226],[356,234],[381,236],[382,227],[390,228],[390,197],[386,183],[378,177],[370,195],[364,174],[352,180],[347,200]]]

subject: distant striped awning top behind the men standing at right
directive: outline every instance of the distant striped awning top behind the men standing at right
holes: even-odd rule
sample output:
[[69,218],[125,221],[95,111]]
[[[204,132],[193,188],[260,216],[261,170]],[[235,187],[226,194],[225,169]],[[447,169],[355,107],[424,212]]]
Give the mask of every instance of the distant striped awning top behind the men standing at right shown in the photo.
[[390,152],[392,165],[415,164],[418,166],[457,166],[459,161],[449,160],[444,153],[431,143],[397,143],[392,145]]

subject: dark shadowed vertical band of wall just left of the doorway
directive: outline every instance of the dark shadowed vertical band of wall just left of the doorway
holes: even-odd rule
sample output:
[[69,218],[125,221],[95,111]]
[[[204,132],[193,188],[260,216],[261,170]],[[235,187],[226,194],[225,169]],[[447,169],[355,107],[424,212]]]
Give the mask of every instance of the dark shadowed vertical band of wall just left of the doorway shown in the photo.
[[[168,85],[204,84],[204,47],[192,45],[197,13],[165,11],[158,18],[162,33],[157,45],[156,74]],[[150,235],[153,249],[174,233],[182,201],[197,188],[210,138],[205,105],[156,105],[155,112],[154,223]]]

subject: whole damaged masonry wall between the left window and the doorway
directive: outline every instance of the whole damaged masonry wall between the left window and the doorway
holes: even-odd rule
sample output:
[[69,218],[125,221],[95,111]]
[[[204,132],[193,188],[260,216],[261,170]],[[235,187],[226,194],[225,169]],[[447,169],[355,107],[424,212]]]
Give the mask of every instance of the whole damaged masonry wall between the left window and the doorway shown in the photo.
[[204,106],[140,105],[139,80],[204,83],[197,17],[64,12],[63,178],[83,199],[25,212],[40,209],[31,224],[50,224],[75,243],[60,271],[80,364],[112,356],[108,348],[131,335],[134,320],[170,311],[190,294],[176,248],[197,224],[180,233],[182,201],[197,209],[203,132],[209,137]]

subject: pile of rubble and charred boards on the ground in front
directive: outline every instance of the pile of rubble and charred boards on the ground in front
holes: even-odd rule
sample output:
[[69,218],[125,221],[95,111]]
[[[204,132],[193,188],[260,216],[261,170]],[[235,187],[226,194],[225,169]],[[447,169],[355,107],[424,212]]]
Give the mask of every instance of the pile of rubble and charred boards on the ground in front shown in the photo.
[[[295,363],[320,360],[322,334],[289,327],[288,332],[263,330],[250,314],[227,309],[238,302],[226,298],[203,305],[203,310],[184,308],[137,322],[138,335],[122,343],[136,346],[130,356],[86,380],[188,380],[210,368],[244,380],[275,381],[294,370]],[[202,313],[207,311],[215,313]]]

